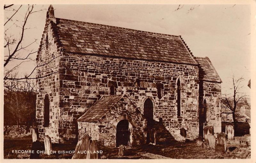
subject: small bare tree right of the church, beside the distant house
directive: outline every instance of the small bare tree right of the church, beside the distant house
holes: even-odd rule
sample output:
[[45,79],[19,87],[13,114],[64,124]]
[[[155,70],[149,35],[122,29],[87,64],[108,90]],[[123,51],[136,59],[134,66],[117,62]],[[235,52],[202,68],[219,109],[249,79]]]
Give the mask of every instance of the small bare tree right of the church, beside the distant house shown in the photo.
[[241,82],[244,81],[243,77],[236,78],[234,74],[232,75],[232,85],[231,90],[233,91],[232,94],[224,94],[222,97],[222,103],[225,105],[225,107],[229,108],[232,112],[233,121],[234,121],[234,129],[236,131],[237,128],[237,120],[241,117],[238,116],[236,113],[236,109],[238,107],[239,103],[247,103],[245,93],[241,92],[241,88],[244,86],[241,84]]

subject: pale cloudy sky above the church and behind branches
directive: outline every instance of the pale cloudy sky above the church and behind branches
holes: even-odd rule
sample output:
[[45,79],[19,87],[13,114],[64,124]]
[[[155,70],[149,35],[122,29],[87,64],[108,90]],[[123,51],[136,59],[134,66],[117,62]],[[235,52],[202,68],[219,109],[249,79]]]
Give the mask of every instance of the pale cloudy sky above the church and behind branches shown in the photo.
[[[189,49],[196,57],[209,57],[222,80],[222,93],[231,93],[231,76],[244,77],[242,92],[250,95],[247,87],[251,73],[251,12],[249,5],[179,5],[160,4],[54,4],[56,18],[106,24],[149,32],[181,35]],[[12,8],[19,7],[18,5]],[[27,5],[22,6],[13,18],[19,24],[26,12]],[[36,5],[36,12],[28,19],[30,29],[25,31],[24,46],[37,39],[28,50],[37,50],[44,31],[46,11],[49,5]],[[194,7],[193,10],[191,10]],[[11,9],[12,10],[12,9]],[[176,10],[176,11],[175,11]],[[10,17],[11,11],[4,16]],[[13,24],[9,34],[19,36],[20,29]],[[6,54],[6,51],[5,51]],[[22,51],[20,56],[25,56]],[[31,57],[36,58],[36,54]],[[6,68],[15,66],[17,62]],[[19,74],[32,71],[34,62],[21,65]]]

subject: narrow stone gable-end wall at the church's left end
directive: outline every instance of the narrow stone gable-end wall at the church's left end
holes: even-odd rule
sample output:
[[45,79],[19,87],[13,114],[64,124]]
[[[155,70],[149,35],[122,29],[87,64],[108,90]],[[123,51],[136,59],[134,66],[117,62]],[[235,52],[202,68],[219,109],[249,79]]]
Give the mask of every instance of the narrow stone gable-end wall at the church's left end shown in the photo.
[[[39,128],[39,137],[49,135],[52,142],[59,142],[59,56],[61,54],[52,24],[46,19],[41,45],[37,54],[37,98],[36,122]],[[44,98],[50,100],[50,125],[44,127]]]

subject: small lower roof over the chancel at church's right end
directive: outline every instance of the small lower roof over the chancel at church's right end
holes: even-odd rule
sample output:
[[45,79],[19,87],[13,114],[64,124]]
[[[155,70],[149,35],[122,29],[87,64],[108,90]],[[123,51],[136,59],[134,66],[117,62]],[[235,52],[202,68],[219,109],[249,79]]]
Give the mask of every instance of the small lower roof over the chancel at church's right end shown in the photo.
[[208,57],[195,57],[199,64],[199,79],[209,82],[222,82]]

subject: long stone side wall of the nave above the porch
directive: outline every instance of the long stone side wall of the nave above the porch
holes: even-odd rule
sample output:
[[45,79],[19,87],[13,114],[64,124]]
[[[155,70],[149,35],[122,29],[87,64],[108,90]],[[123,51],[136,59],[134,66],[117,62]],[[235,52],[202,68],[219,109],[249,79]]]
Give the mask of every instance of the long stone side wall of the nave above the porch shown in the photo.
[[[100,95],[126,93],[143,113],[144,101],[154,101],[154,119],[172,134],[198,135],[198,67],[191,65],[66,54],[60,58],[60,137],[75,138],[79,118]],[[181,117],[177,117],[177,85],[181,82]],[[109,84],[110,83],[110,84]],[[162,97],[159,97],[161,86]],[[175,137],[175,136],[174,136]]]

